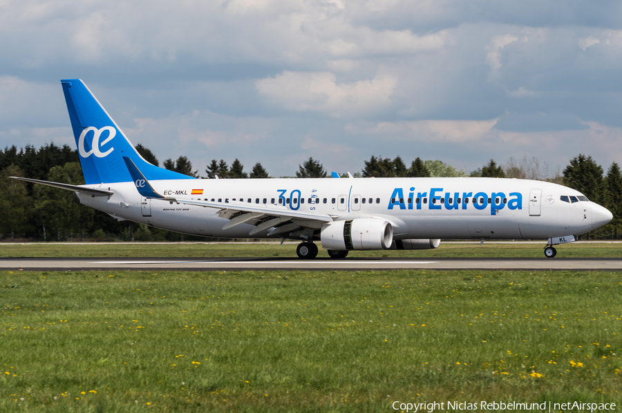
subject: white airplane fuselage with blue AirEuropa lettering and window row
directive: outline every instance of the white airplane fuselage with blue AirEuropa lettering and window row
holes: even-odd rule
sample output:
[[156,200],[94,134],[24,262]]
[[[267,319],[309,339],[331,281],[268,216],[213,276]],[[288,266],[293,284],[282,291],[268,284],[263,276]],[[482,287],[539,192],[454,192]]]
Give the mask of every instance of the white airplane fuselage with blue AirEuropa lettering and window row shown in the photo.
[[[150,183],[158,193],[176,200],[214,200],[232,206],[252,204],[271,211],[312,211],[330,215],[334,220],[384,218],[392,224],[395,240],[551,238],[592,231],[611,219],[603,206],[579,201],[581,193],[534,180],[326,178]],[[82,193],[78,196],[82,204],[119,219],[218,238],[247,238],[255,228],[245,223],[223,230],[229,220],[218,216],[221,209],[144,198],[133,182],[85,186],[114,191],[110,197]],[[569,202],[562,200],[563,195]],[[321,228],[321,223],[311,225]],[[266,238],[268,233],[270,229],[252,238]]]

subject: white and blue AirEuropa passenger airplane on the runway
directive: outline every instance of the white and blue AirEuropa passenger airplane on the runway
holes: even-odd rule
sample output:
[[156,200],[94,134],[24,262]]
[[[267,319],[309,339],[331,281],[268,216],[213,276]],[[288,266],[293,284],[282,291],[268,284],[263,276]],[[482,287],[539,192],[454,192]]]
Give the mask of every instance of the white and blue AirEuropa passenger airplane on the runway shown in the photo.
[[[150,164],[80,79],[61,81],[84,185],[75,191],[117,220],[214,238],[300,240],[299,258],[348,251],[435,249],[441,239],[574,242],[610,222],[566,186],[487,177],[200,179]],[[338,179],[337,179],[338,178]]]

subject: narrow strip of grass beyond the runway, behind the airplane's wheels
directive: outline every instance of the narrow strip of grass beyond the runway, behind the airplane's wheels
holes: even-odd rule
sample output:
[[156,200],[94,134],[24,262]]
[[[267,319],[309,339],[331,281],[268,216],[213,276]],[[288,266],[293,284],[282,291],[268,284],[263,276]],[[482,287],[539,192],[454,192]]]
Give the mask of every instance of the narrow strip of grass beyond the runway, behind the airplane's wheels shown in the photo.
[[[468,244],[441,242],[440,247],[422,251],[350,251],[348,258],[413,257],[413,258],[542,258],[546,242],[511,244],[478,242]],[[10,244],[0,243],[0,258],[9,257],[296,257],[296,243],[151,243],[151,244]],[[557,247],[559,258],[620,258],[622,244],[610,242],[576,242]],[[328,254],[320,248],[319,257]]]

